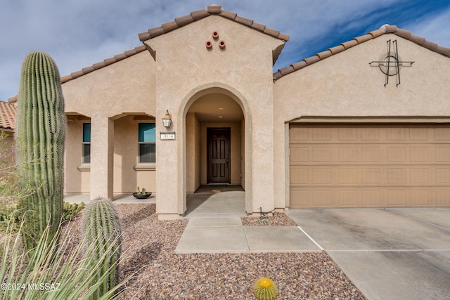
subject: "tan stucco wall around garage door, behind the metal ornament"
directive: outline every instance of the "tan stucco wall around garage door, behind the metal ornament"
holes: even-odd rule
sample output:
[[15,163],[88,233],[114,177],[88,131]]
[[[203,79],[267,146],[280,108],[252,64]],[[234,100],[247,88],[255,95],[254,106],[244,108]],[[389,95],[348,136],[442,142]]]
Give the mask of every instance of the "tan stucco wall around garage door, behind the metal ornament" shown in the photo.
[[[395,77],[384,86],[385,74],[369,66],[387,51],[388,39],[397,39],[401,60],[415,62],[401,68],[398,87]],[[449,58],[385,34],[275,81],[276,207],[285,205],[289,188],[286,122],[304,117],[449,117],[448,74]]]

